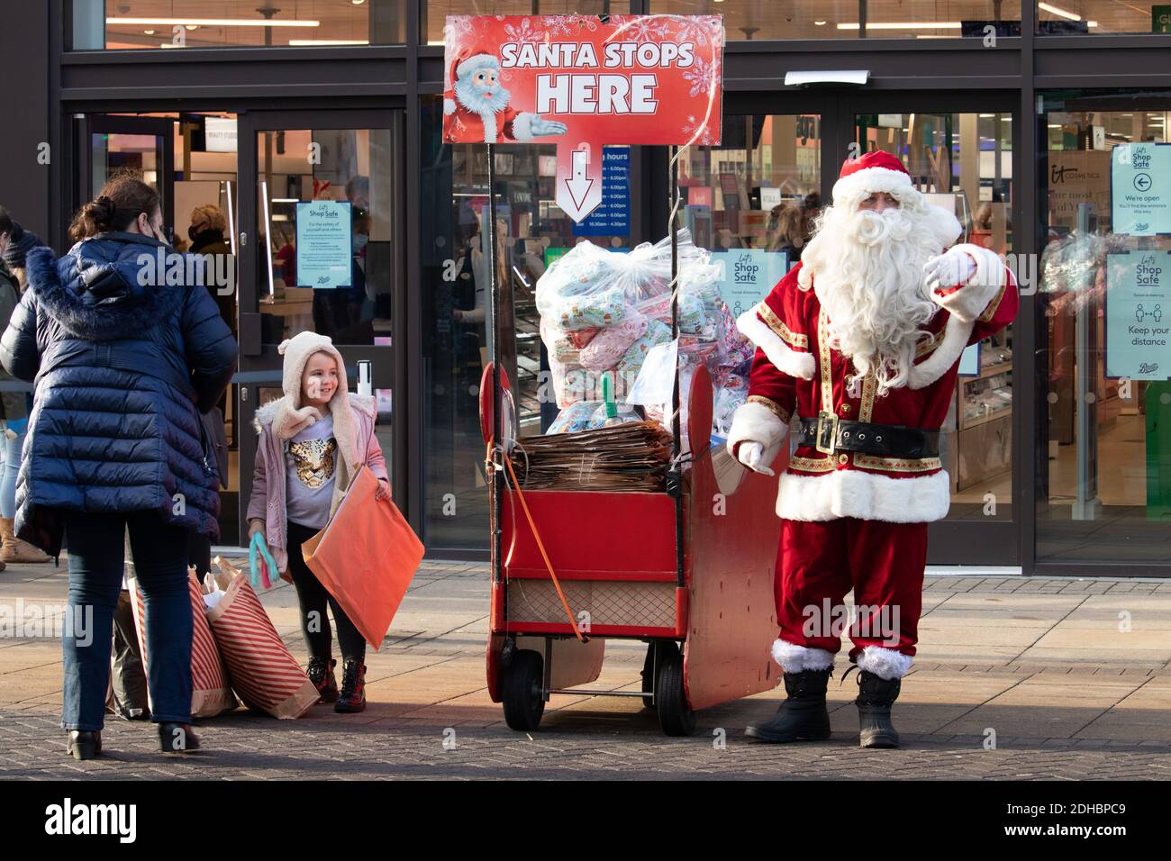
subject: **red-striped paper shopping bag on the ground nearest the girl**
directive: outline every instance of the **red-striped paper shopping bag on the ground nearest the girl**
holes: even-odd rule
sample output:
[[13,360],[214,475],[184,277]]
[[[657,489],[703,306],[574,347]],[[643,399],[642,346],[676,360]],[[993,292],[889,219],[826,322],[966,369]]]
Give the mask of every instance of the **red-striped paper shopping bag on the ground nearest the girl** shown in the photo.
[[[248,579],[218,560],[224,595],[207,611],[227,663],[232,688],[249,709],[275,718],[299,718],[317,702],[317,689],[273,628]],[[224,583],[222,580],[227,580]]]

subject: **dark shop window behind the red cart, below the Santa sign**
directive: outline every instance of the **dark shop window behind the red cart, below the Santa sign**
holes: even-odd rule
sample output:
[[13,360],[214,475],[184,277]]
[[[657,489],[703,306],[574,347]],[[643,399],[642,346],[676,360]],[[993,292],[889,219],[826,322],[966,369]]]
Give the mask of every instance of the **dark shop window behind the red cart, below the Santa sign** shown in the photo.
[[[439,97],[425,96],[420,110],[424,540],[429,547],[482,549],[488,541],[488,494],[479,385],[493,339],[488,153],[482,144],[443,143]],[[637,148],[617,150],[626,164],[637,158]],[[514,303],[516,356],[511,383],[521,433],[541,433],[555,418],[556,404],[539,397],[540,387],[548,383],[549,364],[540,336],[536,281],[580,241],[629,248],[632,185],[623,235],[575,227],[554,201],[554,144],[497,145],[493,155],[497,278],[512,292]]]

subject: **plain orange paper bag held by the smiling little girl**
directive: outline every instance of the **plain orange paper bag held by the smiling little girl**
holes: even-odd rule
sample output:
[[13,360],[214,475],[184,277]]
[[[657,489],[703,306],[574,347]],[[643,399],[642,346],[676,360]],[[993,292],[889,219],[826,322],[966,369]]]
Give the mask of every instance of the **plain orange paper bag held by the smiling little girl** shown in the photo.
[[374,498],[377,488],[374,473],[358,467],[333,519],[301,545],[310,570],[375,649],[423,561],[423,542],[397,505]]

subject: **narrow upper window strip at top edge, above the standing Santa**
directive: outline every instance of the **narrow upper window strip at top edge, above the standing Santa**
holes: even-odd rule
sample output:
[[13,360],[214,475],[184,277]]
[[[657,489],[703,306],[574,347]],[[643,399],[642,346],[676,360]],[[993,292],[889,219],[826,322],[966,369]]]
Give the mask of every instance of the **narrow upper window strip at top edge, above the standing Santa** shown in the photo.
[[730,41],[752,39],[960,39],[1020,35],[1020,0],[651,0],[650,11],[724,15]]

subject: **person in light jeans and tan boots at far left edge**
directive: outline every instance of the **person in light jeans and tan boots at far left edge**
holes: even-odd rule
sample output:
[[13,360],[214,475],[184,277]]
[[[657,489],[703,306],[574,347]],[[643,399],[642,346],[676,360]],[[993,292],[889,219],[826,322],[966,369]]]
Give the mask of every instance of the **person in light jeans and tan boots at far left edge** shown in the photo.
[[[35,233],[26,231],[12,220],[0,206],[0,323],[8,324],[12,313],[20,301],[20,294],[28,287],[25,275],[26,254],[41,246]],[[15,383],[16,378],[0,369],[0,382]],[[28,541],[19,540],[13,532],[16,517],[16,476],[20,473],[20,456],[28,429],[28,410],[32,397],[25,391],[0,392],[0,430],[4,432],[4,467],[0,472],[0,570],[8,562],[48,562],[49,554]]]

